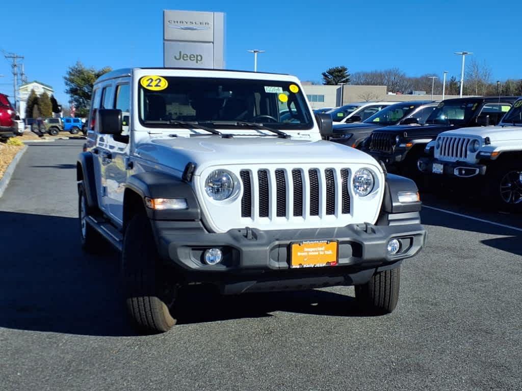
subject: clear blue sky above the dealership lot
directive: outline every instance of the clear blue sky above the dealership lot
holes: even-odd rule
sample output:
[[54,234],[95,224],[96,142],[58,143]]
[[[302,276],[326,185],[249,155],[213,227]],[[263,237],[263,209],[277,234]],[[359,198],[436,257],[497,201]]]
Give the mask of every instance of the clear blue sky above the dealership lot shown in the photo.
[[[52,85],[65,103],[63,76],[77,60],[96,68],[162,66],[163,9],[226,13],[229,69],[251,70],[253,55],[246,51],[259,48],[266,50],[259,71],[301,80],[318,81],[336,65],[350,72],[398,67],[409,76],[442,77],[444,70],[459,76],[453,52],[464,50],[485,60],[494,80],[522,78],[519,2],[2,1],[0,48],[25,56],[28,79]],[[13,76],[2,58],[0,75],[0,92],[11,95]]]

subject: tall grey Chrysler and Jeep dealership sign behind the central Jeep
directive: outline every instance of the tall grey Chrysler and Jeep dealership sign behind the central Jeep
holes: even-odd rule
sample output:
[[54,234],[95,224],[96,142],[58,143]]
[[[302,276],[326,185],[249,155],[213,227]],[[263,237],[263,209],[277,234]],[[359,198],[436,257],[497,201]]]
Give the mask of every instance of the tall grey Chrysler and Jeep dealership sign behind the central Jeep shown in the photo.
[[163,11],[165,67],[222,69],[223,49],[223,13]]

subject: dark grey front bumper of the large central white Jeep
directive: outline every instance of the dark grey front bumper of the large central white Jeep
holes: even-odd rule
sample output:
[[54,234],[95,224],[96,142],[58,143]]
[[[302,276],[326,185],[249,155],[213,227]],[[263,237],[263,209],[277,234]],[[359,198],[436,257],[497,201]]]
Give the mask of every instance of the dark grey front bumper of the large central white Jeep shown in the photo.
[[[398,216],[400,215],[400,216]],[[353,224],[341,228],[260,230],[232,229],[226,233],[208,233],[200,222],[152,221],[163,262],[174,264],[189,282],[275,290],[297,285],[306,287],[364,283],[376,268],[397,264],[416,255],[425,245],[426,231],[419,213],[394,214],[389,226]],[[390,255],[388,241],[401,240],[402,249]],[[336,240],[336,266],[291,268],[291,243],[309,240]],[[223,260],[217,265],[203,261],[204,252],[219,248]],[[369,273],[362,273],[369,271]],[[362,279],[361,279],[362,278]],[[269,287],[269,288],[268,288]],[[225,289],[226,290],[226,289]],[[244,291],[243,288],[240,289]],[[235,290],[234,290],[235,292]]]

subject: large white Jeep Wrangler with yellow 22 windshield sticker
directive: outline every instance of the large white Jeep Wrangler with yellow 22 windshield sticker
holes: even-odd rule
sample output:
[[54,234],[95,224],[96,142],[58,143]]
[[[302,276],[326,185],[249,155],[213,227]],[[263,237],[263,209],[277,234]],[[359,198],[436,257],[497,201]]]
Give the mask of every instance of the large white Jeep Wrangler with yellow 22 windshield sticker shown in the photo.
[[413,181],[323,141],[287,75],[123,69],[94,84],[77,162],[81,243],[122,252],[129,312],[176,322],[179,289],[222,294],[355,285],[394,310],[400,263],[424,246]]

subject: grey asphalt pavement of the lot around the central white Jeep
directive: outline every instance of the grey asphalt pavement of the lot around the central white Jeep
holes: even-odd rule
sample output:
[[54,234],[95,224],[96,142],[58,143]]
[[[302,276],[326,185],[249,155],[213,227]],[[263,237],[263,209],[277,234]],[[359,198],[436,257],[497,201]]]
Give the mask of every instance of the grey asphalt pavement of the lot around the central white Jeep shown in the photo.
[[362,316],[345,287],[186,291],[179,325],[137,335],[118,255],[80,250],[81,145],[30,145],[0,198],[0,390],[522,389],[522,231],[427,208],[429,243],[402,266],[393,314]]

